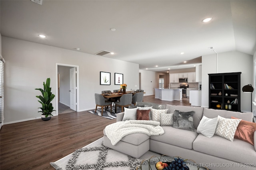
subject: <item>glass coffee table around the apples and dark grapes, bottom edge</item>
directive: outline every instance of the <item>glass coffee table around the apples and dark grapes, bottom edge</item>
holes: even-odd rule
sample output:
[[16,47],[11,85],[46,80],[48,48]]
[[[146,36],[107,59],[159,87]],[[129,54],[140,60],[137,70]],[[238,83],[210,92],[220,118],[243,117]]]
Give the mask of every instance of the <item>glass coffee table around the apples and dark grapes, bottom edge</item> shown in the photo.
[[[162,156],[152,156],[148,160],[142,160],[142,163],[140,166],[136,168],[136,170],[156,170],[156,162],[161,161],[161,162],[172,162],[174,158],[181,158],[179,156],[167,156],[167,155],[162,155]],[[183,159],[186,160],[186,159]],[[209,170],[206,167],[201,167],[200,164],[197,164],[193,160],[186,160],[186,165],[190,170]]]

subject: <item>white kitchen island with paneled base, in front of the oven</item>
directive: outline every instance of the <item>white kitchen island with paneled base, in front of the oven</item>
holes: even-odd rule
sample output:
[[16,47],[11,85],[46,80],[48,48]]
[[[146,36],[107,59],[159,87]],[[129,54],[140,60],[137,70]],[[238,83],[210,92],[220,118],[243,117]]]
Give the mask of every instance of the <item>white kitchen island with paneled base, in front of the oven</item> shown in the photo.
[[155,88],[155,98],[166,101],[182,100],[182,88]]

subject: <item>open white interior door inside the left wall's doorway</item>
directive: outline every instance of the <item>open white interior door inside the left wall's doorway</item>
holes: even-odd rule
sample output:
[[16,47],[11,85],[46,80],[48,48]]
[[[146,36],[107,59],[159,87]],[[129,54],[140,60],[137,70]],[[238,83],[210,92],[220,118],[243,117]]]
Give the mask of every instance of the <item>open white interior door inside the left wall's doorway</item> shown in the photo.
[[76,111],[76,67],[70,68],[70,109]]

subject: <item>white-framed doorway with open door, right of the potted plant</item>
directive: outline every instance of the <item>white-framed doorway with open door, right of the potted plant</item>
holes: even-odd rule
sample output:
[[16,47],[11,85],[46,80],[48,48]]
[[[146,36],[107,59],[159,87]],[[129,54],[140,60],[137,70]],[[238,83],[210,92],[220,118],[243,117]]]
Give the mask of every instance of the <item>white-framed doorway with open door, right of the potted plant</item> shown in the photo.
[[56,63],[56,115],[79,111],[79,67]]

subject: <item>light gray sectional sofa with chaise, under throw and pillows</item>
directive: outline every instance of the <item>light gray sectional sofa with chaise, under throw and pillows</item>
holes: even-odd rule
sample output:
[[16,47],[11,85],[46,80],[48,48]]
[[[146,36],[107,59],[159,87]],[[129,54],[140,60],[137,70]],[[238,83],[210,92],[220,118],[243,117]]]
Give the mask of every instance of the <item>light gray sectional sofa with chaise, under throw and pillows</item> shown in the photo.
[[[224,137],[214,135],[208,138],[198,134],[196,129],[203,116],[208,118],[231,116],[252,122],[252,113],[240,113],[227,110],[208,109],[204,107],[158,105],[139,102],[136,106],[152,106],[154,109],[168,109],[182,112],[194,111],[194,131],[177,129],[172,126],[162,126],[163,135],[148,136],[134,133],[122,138],[116,145],[112,145],[104,131],[104,145],[130,156],[139,158],[148,150],[170,156],[180,156],[192,159],[200,166],[210,170],[256,170],[256,131],[254,132],[254,146],[245,141],[234,139],[229,141]],[[117,114],[117,121],[122,121],[124,112]]]

